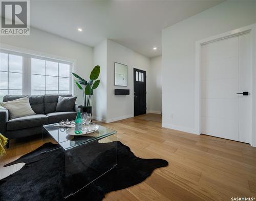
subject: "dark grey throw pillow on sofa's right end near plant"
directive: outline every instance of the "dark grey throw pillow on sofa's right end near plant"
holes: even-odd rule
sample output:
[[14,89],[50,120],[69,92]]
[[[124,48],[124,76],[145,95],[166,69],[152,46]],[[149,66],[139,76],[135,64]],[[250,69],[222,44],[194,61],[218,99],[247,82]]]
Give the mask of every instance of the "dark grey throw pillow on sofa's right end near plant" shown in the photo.
[[59,96],[55,111],[74,111],[76,97]]

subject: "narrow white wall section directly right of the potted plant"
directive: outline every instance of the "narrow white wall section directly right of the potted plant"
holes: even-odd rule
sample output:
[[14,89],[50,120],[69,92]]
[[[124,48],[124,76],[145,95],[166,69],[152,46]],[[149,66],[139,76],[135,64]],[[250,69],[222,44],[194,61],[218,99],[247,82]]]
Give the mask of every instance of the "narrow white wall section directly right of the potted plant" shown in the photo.
[[93,118],[99,121],[106,122],[106,73],[107,73],[107,41],[103,40],[96,47],[94,47],[93,51],[93,62],[94,65],[100,66],[100,84],[94,90],[93,95]]

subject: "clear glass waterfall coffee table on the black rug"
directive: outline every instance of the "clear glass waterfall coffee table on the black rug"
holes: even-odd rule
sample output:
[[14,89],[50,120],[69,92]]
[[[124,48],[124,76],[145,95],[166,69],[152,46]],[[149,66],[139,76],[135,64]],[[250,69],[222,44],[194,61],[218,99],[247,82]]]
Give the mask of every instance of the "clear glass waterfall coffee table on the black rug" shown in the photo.
[[60,145],[47,152],[61,150],[65,153],[65,198],[86,188],[117,165],[117,132],[98,126],[98,130],[83,136],[68,135],[69,128],[56,127],[56,124],[42,126],[43,140]]

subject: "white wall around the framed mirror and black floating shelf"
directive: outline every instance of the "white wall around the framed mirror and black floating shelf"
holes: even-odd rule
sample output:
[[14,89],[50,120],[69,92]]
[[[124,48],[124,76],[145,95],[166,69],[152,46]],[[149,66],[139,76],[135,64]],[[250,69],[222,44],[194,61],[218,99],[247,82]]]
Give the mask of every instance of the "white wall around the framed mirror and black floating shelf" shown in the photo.
[[[107,40],[108,43],[108,87],[107,87],[107,112],[106,122],[117,121],[133,117],[133,68],[146,71],[150,69],[150,59],[134,52],[133,50],[121,46],[120,44]],[[128,66],[128,79],[127,86],[115,86],[114,85],[114,62],[122,63]],[[148,79],[146,80],[148,86]],[[130,89],[130,95],[127,96],[115,96],[115,88]],[[148,87],[147,87],[148,88]],[[147,97],[148,102],[148,97]]]

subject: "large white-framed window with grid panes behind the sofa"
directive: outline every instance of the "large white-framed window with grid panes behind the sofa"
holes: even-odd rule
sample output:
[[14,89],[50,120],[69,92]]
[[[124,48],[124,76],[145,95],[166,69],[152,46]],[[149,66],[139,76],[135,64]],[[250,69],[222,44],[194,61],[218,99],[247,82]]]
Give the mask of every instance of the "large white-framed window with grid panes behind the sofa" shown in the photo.
[[5,95],[72,93],[73,64],[0,50],[0,102]]

